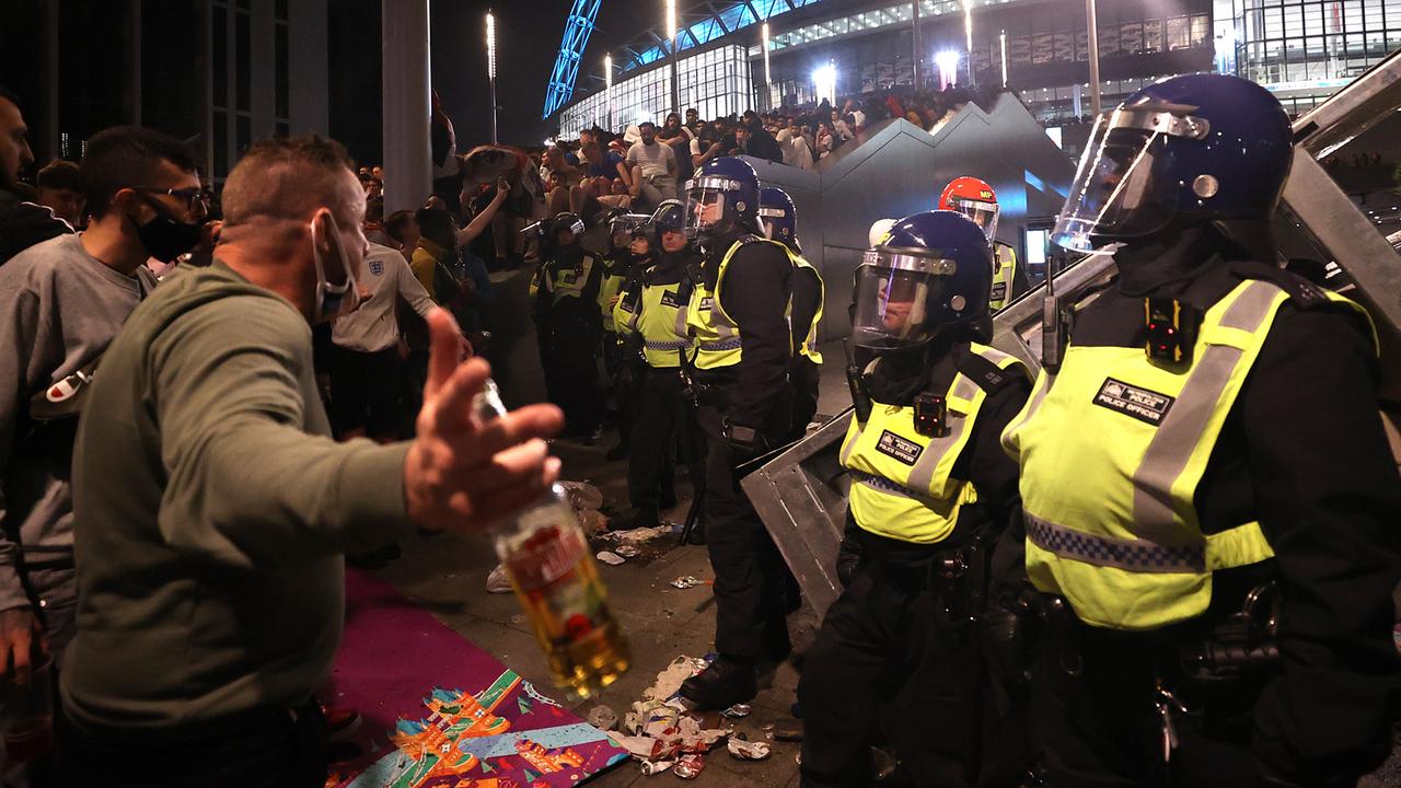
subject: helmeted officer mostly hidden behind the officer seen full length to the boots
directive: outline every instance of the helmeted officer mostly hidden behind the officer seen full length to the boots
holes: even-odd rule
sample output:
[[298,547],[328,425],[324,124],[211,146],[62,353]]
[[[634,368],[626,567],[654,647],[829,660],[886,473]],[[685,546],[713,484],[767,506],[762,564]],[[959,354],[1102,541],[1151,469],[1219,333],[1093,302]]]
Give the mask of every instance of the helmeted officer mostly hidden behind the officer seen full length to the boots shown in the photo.
[[817,324],[822,320],[825,285],[822,275],[803,257],[797,241],[797,209],[793,198],[778,186],[759,189],[759,227],[764,237],[779,241],[793,261],[793,300],[789,325],[793,330],[793,363],[789,379],[793,383],[793,426],[789,437],[803,437],[807,425],[817,415],[817,391],[821,380],[822,353],[817,351]]

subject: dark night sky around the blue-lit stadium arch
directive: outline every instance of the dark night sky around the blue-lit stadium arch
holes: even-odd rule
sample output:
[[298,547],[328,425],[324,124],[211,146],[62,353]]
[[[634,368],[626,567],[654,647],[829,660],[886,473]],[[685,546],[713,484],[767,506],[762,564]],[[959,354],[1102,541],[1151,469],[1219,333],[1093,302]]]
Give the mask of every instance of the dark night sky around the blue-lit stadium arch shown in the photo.
[[[458,150],[490,142],[485,14],[496,11],[496,102],[503,143],[534,143],[552,130],[541,119],[545,86],[565,35],[570,0],[434,0],[433,84],[457,128]],[[678,3],[682,8],[686,0]],[[602,0],[580,74],[643,28],[661,24],[663,0]],[[586,84],[584,79],[579,84]],[[577,93],[576,93],[577,95]]]

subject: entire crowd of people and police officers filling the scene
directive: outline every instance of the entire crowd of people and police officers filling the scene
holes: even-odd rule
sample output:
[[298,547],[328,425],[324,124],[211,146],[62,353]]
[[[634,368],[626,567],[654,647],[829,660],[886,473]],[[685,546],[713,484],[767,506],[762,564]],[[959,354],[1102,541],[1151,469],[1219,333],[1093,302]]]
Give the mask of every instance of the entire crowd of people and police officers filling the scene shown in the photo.
[[[991,346],[1026,282],[986,182],[873,229],[829,304],[741,157],[811,167],[971,100],[688,111],[538,161],[458,154],[434,101],[433,193],[385,216],[384,172],[318,136],[252,144],[213,195],[188,144],[120,126],[31,189],[0,90],[0,660],[31,694],[57,676],[59,754],[4,780],[322,785],[346,557],[518,512],[559,477],[546,439],[609,411],[611,527],[658,524],[678,467],[698,499],[716,656],[679,694],[748,704],[801,600],[740,482],[806,435],[817,327],[849,308],[801,785],[874,782],[873,745],[913,784],[1353,785],[1401,687],[1401,478],[1359,428],[1372,318],[1276,265],[1278,100],[1174,77],[1097,126],[1055,234],[1118,276],[1049,304],[1035,376]],[[520,266],[552,404],[483,421],[490,275]],[[918,724],[883,729],[902,702]]]

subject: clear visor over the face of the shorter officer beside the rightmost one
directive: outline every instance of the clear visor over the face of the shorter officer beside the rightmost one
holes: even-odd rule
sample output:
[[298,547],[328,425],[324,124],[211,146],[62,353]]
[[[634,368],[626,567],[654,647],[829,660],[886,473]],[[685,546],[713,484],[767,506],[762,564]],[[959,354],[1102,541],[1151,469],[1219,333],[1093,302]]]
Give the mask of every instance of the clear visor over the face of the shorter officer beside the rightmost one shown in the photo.
[[929,304],[943,294],[954,262],[936,257],[871,250],[856,269],[852,342],[892,351],[927,342],[934,327]]

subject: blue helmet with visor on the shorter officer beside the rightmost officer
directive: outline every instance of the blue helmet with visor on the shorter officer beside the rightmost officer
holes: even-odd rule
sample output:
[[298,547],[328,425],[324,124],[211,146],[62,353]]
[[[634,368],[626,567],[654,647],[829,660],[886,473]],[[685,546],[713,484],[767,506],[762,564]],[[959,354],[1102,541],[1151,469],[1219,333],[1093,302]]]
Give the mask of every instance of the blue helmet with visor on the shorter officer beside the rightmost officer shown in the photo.
[[897,222],[856,269],[852,342],[912,348],[988,315],[992,247],[971,219],[926,210]]

